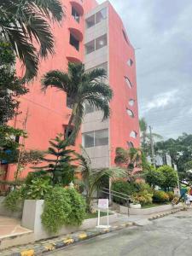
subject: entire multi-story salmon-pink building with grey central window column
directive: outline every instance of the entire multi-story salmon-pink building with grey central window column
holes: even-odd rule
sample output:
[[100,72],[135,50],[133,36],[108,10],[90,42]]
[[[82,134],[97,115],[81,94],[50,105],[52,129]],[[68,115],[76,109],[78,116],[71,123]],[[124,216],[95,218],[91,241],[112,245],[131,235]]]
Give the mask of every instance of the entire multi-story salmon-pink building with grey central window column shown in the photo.
[[[41,91],[40,79],[53,69],[67,71],[67,64],[83,61],[87,70],[103,67],[107,82],[113,89],[111,117],[102,122],[102,113],[86,105],[82,134],[73,149],[83,143],[95,167],[113,166],[115,148],[139,147],[137,113],[137,82],[134,49],[126,35],[119,15],[109,3],[98,5],[95,0],[63,0],[66,18],[52,26],[55,55],[41,61],[38,78],[29,85],[30,92],[20,97],[21,114],[15,128],[23,128],[26,119],[26,149],[45,150],[49,139],[63,133],[71,114],[67,96],[55,89]],[[18,64],[18,73],[21,69]],[[68,106],[68,107],[67,107]],[[13,177],[10,165],[6,178]],[[26,176],[26,170],[23,176]]]

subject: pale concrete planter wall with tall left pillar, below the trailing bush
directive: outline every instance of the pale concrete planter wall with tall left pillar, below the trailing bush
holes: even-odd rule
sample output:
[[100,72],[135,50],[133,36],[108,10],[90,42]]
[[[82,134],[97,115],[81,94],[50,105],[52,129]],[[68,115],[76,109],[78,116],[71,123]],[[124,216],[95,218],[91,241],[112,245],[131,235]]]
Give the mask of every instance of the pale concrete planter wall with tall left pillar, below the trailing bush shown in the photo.
[[[41,215],[44,211],[44,200],[26,200],[24,203],[21,225],[33,231],[34,241],[41,239],[70,234],[79,230],[86,230],[96,227],[97,218],[85,219],[79,227],[63,227],[56,234],[49,234],[44,230],[41,223]],[[117,214],[109,215],[109,224],[117,221]],[[107,216],[101,218],[101,224],[107,224]]]

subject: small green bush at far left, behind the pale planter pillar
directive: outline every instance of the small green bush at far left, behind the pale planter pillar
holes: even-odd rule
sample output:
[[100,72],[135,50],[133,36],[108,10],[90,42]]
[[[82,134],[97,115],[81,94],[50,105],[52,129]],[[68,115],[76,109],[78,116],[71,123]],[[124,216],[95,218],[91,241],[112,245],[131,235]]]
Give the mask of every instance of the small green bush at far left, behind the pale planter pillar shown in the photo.
[[20,211],[23,201],[22,189],[15,189],[5,197],[3,205],[9,211],[17,212]]

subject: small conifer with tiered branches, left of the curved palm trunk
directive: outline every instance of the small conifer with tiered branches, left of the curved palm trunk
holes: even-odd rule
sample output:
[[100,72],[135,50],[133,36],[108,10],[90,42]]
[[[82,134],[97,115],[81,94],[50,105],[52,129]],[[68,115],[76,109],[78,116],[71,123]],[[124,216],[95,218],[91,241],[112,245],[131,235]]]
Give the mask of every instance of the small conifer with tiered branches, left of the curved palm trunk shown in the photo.
[[62,139],[63,135],[59,134],[54,140],[50,140],[50,147],[48,148],[48,155],[50,158],[42,158],[48,163],[48,166],[34,167],[43,175],[49,174],[52,178],[53,185],[62,184],[68,185],[73,181],[75,166],[72,166],[73,158],[72,149],[67,149],[67,142]]

